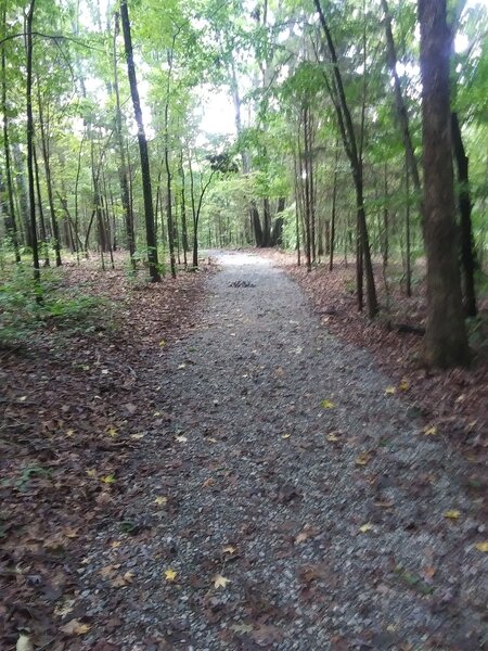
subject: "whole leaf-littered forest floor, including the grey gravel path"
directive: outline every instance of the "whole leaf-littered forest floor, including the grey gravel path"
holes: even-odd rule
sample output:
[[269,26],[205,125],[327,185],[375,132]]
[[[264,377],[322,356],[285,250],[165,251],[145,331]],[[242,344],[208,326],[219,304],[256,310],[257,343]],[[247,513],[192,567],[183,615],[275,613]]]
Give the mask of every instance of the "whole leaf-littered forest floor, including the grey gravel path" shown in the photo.
[[481,367],[426,374],[344,291],[318,315],[218,263],[85,273],[116,329],[0,353],[2,651],[488,648]]

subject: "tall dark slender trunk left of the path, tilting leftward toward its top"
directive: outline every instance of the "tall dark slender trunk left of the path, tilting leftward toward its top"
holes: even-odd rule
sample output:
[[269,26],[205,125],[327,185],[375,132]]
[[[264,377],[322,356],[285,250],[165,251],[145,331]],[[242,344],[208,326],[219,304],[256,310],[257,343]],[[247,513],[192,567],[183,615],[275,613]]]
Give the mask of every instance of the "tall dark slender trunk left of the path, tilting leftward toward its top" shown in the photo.
[[132,97],[133,113],[138,125],[138,142],[139,154],[141,157],[142,191],[144,197],[145,237],[147,242],[147,261],[151,280],[153,282],[158,282],[160,280],[160,275],[157,260],[156,231],[154,229],[154,208],[151,189],[151,171],[147,153],[147,140],[145,138],[144,122],[142,119],[141,102],[139,99],[138,82],[136,77],[136,66],[133,64],[132,38],[130,34],[130,21],[129,10],[127,8],[127,0],[121,0],[120,2],[120,17],[124,31],[124,43],[126,49],[130,94]]

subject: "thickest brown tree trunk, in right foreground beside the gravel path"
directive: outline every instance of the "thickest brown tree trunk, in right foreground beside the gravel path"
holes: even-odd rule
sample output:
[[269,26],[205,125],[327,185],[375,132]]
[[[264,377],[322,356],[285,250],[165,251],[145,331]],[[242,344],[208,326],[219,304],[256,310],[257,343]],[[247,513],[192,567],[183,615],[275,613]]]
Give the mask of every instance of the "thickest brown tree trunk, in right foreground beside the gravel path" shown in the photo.
[[425,358],[434,367],[465,366],[464,323],[454,222],[446,0],[419,0],[421,27],[424,233],[427,256]]

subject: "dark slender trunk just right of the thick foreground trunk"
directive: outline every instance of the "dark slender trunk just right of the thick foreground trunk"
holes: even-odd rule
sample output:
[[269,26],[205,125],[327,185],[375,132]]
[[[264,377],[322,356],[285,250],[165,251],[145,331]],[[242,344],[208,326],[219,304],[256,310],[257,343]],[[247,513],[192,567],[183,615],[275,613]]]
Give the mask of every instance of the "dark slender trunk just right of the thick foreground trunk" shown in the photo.
[[463,267],[464,310],[467,317],[477,315],[474,282],[475,256],[471,220],[470,161],[464,150],[458,114],[452,113],[452,145],[458,167],[458,206],[461,216],[461,263]]

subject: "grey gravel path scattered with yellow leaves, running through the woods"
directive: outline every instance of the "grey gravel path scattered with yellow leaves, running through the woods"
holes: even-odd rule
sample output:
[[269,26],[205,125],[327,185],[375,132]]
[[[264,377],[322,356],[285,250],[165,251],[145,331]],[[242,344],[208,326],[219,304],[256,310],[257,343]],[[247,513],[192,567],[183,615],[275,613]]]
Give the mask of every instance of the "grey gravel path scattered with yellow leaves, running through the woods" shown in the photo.
[[281,270],[218,261],[154,378],[150,472],[79,569],[82,648],[483,649],[467,462]]

